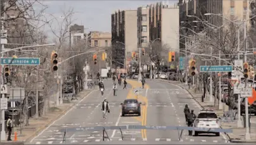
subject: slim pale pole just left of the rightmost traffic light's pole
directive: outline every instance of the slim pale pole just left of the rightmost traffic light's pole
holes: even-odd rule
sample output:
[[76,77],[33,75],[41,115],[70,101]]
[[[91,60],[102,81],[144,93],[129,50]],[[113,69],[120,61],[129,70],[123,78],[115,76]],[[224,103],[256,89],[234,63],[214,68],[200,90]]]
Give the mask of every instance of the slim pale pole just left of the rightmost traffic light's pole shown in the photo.
[[[240,26],[238,27],[238,60],[240,60],[240,54],[239,54],[239,51],[240,51]],[[240,75],[238,75],[238,79],[241,81],[241,77]],[[237,127],[243,127],[242,125],[242,121],[241,121],[241,96],[240,94],[238,94],[238,123],[237,123]]]

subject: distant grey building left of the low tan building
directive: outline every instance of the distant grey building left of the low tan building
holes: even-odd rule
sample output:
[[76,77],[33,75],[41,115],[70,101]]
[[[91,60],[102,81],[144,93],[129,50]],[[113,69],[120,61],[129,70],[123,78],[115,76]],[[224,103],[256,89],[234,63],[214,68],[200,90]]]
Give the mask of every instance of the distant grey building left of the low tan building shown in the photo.
[[70,47],[77,42],[84,40],[84,26],[83,25],[72,25],[69,28],[70,35]]

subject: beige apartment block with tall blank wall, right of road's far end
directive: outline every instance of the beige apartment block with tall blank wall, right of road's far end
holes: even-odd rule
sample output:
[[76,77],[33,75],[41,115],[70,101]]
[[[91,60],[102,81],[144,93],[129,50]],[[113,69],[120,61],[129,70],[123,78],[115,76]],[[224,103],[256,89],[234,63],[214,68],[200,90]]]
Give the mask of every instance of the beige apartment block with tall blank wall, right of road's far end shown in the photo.
[[151,4],[149,13],[150,41],[160,39],[165,49],[179,50],[179,6]]

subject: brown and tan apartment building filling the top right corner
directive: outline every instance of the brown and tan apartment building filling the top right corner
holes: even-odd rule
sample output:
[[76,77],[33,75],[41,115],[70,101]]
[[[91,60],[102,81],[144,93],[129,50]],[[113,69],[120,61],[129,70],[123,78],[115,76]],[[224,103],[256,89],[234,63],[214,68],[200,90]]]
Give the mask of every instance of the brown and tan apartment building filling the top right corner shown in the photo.
[[[227,23],[225,18],[229,20],[248,20],[255,15],[255,10],[252,11],[253,8],[255,9],[255,1],[249,0],[180,0],[179,25],[180,27],[188,27],[195,32],[200,32],[203,30],[203,25],[198,21],[198,18],[207,20],[208,23],[212,23],[213,25],[221,26]],[[205,13],[221,14],[224,18],[221,16],[205,16]],[[198,18],[193,16],[197,16]],[[255,19],[248,21],[248,28],[254,22]],[[188,31],[181,30],[181,33],[187,35],[189,34]],[[185,48],[185,40],[183,38],[180,39],[180,49]]]

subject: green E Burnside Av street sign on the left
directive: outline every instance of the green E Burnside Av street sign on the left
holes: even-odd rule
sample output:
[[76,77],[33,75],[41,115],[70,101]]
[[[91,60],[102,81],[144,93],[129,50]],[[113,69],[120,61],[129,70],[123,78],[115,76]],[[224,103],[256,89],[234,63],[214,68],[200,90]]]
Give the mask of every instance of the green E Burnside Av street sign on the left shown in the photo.
[[1,65],[40,65],[40,58],[1,58]]

